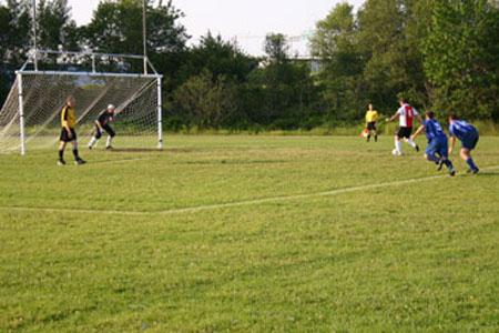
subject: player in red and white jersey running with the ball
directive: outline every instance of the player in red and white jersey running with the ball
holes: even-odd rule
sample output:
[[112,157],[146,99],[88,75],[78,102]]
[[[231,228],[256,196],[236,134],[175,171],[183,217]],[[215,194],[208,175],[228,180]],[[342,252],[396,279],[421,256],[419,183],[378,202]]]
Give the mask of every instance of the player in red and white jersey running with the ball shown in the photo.
[[419,151],[419,147],[410,139],[410,134],[413,133],[415,117],[419,120],[420,123],[422,123],[421,115],[415,108],[409,105],[405,99],[400,99],[399,104],[400,109],[398,109],[398,111],[391,118],[385,119],[386,122],[390,122],[399,118],[400,125],[395,135],[395,149],[391,151],[394,155],[403,154],[400,143],[400,139],[403,138],[408,144],[416,149],[416,151]]

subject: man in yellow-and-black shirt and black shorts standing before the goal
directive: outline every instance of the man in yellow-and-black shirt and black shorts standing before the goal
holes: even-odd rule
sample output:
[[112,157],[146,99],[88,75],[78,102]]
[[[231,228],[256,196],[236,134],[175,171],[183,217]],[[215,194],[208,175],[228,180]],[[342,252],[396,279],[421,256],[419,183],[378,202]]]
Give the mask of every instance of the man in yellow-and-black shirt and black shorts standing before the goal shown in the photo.
[[77,117],[74,115],[74,105],[77,100],[73,97],[69,97],[65,105],[61,110],[61,144],[59,145],[59,161],[58,165],[64,165],[64,149],[68,142],[73,145],[74,163],[77,165],[86,163],[78,154],[77,132],[74,128],[77,125]]

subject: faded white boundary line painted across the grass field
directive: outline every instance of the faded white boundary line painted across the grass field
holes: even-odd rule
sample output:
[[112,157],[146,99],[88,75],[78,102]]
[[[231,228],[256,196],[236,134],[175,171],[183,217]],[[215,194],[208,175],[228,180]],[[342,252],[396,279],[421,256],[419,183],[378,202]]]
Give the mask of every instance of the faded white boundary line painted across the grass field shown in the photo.
[[[499,165],[482,168],[480,170],[486,171],[486,170],[497,170],[497,169],[499,169]],[[464,175],[464,174],[466,174],[466,173],[461,172],[461,173],[458,173],[457,175]],[[279,202],[279,201],[291,201],[291,200],[298,200],[298,199],[329,196],[329,195],[336,195],[336,194],[349,193],[349,192],[356,192],[356,191],[373,190],[373,189],[388,188],[388,186],[398,186],[398,185],[425,182],[425,181],[444,179],[444,178],[449,178],[449,175],[446,174],[446,175],[434,175],[434,176],[426,176],[426,178],[415,178],[415,179],[408,179],[408,180],[403,180],[403,181],[394,181],[394,182],[386,182],[386,183],[378,183],[378,184],[370,184],[370,185],[353,186],[353,188],[338,189],[338,190],[332,190],[332,191],[326,191],[326,192],[296,194],[296,195],[283,195],[283,196],[246,200],[246,201],[230,202],[230,203],[200,205],[200,206],[193,206],[193,208],[171,209],[171,210],[159,211],[159,212],[101,211],[101,210],[50,209],[50,208],[28,208],[28,206],[0,206],[0,210],[1,211],[21,211],[21,212],[82,213],[82,214],[109,214],[109,215],[135,215],[135,216],[182,214],[182,213],[192,213],[192,212],[198,212],[198,211],[210,211],[210,210],[217,210],[217,209],[225,209],[225,208],[242,206],[242,205],[253,205],[253,204],[261,204],[261,203],[268,203],[268,202]]]

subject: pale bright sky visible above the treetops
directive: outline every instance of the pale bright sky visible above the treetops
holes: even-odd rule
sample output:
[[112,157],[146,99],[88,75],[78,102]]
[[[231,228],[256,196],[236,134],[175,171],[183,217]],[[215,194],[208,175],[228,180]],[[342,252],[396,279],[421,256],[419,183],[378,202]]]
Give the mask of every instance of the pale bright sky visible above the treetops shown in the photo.
[[[167,0],[163,0],[165,3]],[[69,0],[79,26],[92,18],[100,0]],[[343,0],[173,0],[185,14],[180,22],[196,43],[207,31],[252,56],[263,54],[263,42],[269,32],[291,38],[292,54],[308,54],[307,34]],[[364,0],[348,0],[357,10]]]

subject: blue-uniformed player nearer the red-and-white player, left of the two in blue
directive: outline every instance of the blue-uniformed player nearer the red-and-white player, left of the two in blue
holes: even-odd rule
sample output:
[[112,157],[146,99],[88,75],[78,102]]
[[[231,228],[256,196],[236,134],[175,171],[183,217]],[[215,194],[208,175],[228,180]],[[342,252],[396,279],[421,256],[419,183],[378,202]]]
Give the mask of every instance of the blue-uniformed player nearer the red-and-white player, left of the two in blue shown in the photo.
[[[449,174],[455,175],[456,171],[454,170],[452,162],[448,159],[448,144],[447,144],[447,135],[441,128],[441,124],[436,121],[435,113],[431,111],[426,112],[426,121],[419,127],[419,129],[413,134],[411,139],[416,139],[416,137],[425,130],[426,138],[428,139],[428,145],[425,152],[425,159],[430,162],[435,162],[438,164],[438,170],[441,170],[441,167],[445,164],[447,169],[449,169]],[[438,157],[437,157],[438,154]]]

